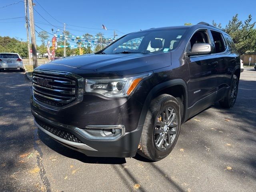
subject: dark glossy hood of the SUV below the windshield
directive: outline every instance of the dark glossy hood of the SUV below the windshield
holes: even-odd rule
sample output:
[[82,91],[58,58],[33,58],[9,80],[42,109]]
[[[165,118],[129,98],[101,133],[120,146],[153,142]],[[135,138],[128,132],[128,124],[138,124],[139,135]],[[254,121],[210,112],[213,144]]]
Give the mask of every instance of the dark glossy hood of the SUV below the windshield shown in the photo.
[[[171,53],[159,54],[86,54],[54,60],[39,68],[65,71],[111,72],[120,76],[148,72],[171,65]],[[80,72],[82,73],[82,72]]]

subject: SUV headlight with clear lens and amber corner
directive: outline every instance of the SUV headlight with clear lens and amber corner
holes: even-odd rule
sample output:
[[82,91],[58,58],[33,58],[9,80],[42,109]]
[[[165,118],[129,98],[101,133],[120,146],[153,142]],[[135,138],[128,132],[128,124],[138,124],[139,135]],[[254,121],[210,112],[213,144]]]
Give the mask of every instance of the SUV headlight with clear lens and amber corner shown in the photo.
[[124,78],[91,78],[85,80],[85,92],[96,93],[106,97],[126,97],[132,94],[136,86],[152,72],[126,76]]

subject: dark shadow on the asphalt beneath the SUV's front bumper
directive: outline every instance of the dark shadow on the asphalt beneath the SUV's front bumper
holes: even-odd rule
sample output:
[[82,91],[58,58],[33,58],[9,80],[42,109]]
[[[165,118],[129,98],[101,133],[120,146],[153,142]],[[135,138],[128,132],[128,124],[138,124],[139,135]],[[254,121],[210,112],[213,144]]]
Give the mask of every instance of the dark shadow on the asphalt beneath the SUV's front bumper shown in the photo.
[[72,150],[62,144],[56,142],[42,130],[38,129],[38,137],[39,139],[49,148],[54,150],[55,152],[66,156],[68,158],[73,158],[79,160],[84,163],[92,163],[92,164],[124,164],[126,163],[125,158],[112,158],[112,157],[89,157],[85,154],[78,152],[76,150]]

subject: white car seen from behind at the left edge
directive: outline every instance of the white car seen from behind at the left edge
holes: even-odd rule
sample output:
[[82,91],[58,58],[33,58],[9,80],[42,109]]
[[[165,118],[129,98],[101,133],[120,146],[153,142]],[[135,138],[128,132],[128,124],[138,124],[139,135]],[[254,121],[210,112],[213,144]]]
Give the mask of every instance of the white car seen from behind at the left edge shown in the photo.
[[18,53],[0,53],[0,71],[18,68],[21,72],[24,71],[23,61]]

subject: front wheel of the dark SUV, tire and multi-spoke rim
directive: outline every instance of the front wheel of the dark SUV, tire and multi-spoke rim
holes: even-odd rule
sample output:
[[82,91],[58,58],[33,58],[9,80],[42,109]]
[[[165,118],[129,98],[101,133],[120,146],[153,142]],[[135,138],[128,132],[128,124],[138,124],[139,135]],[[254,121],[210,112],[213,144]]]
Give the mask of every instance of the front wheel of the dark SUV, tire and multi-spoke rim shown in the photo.
[[[165,122],[166,116],[170,119]],[[174,148],[179,133],[179,102],[173,96],[162,94],[150,104],[142,129],[138,154],[152,161],[165,158]]]

